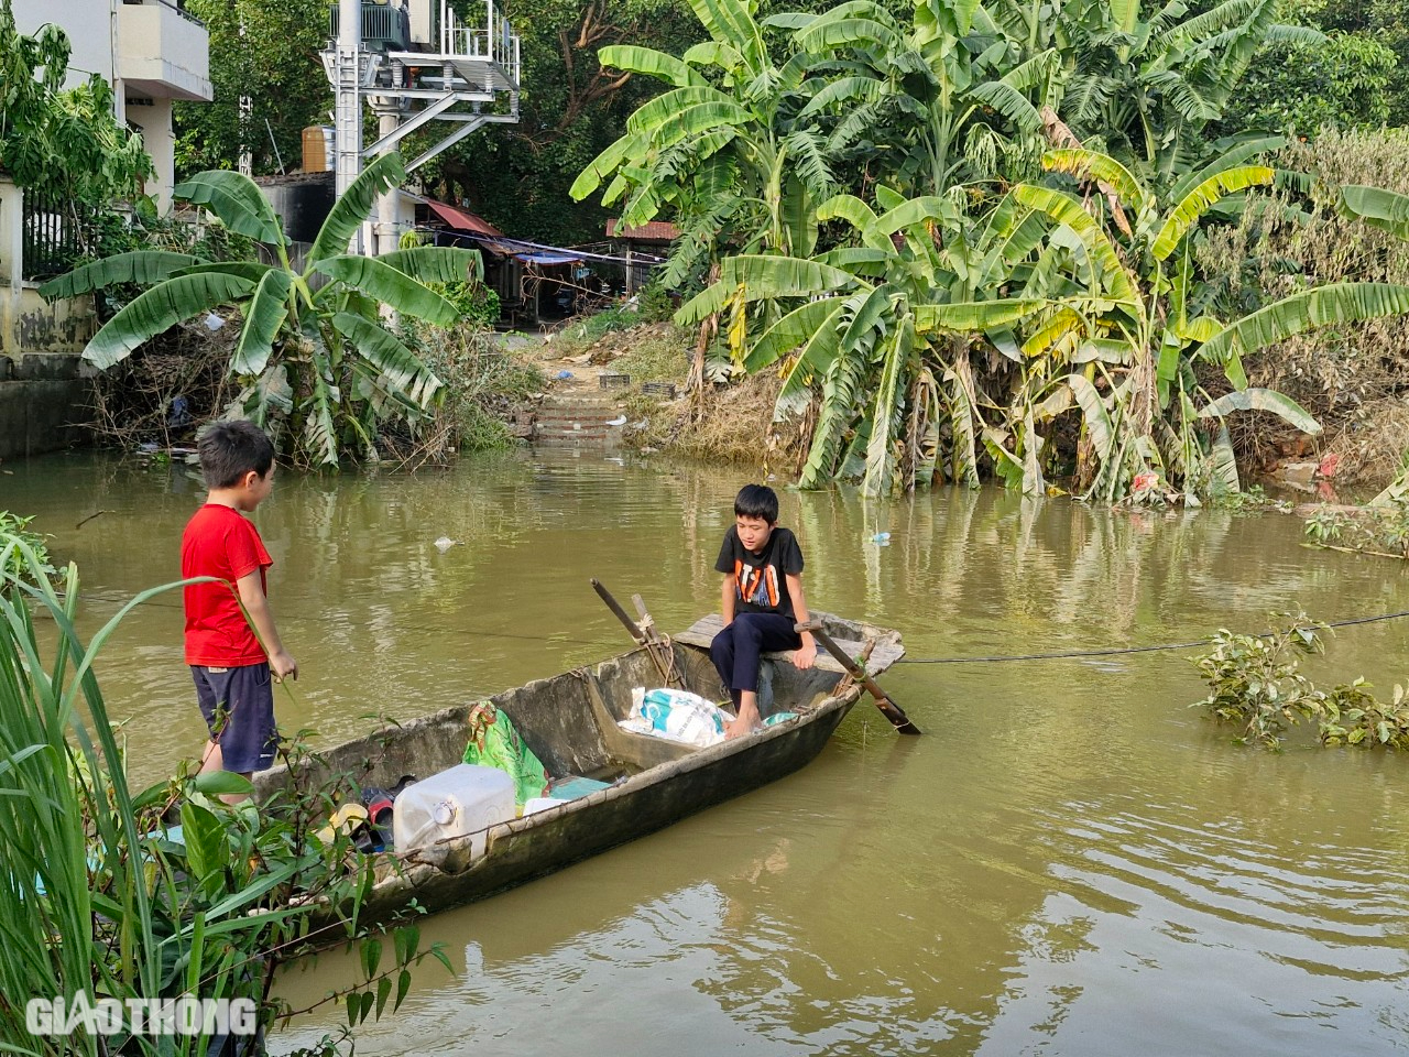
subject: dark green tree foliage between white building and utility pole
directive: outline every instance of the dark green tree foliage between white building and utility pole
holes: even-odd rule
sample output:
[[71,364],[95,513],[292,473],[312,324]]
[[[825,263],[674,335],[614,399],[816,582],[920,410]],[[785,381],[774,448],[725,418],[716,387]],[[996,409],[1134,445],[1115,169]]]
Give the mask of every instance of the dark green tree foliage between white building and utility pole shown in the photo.
[[[176,173],[232,169],[248,151],[259,175],[300,168],[302,134],[325,124],[333,89],[318,59],[328,0],[186,0],[210,35],[209,103],[178,101]],[[241,110],[247,97],[249,109]]]

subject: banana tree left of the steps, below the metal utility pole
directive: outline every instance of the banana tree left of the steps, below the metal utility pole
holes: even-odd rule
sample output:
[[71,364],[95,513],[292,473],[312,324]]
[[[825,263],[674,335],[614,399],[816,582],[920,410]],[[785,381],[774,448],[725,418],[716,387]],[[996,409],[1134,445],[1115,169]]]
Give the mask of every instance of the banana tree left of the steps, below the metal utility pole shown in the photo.
[[[347,252],[376,196],[404,182],[399,155],[373,161],[337,200],[304,266],[269,200],[247,176],[203,172],[172,196],[210,210],[230,231],[255,240],[261,258],[207,261],[190,254],[135,251],[83,265],[39,288],[75,297],[120,283],[147,286],[83,350],[100,369],[185,320],[235,309],[242,327],[230,373],[242,383],[231,410],[287,435],[297,458],[337,465],[344,452],[376,458],[382,420],[410,423],[433,409],[440,379],[383,326],[383,306],[437,326],[455,306],[427,283],[480,275],[476,251],[417,247],[378,258]],[[268,264],[266,261],[273,261]]]

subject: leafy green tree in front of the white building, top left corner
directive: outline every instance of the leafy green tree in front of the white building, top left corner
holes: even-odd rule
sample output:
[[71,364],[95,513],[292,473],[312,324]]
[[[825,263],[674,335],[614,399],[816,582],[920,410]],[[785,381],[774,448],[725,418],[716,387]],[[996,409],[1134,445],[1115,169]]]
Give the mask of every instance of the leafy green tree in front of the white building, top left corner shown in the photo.
[[18,32],[11,0],[0,0],[0,172],[55,202],[106,207],[139,194],[152,163],[113,116],[106,80],[94,73],[63,87],[69,51],[52,23]]

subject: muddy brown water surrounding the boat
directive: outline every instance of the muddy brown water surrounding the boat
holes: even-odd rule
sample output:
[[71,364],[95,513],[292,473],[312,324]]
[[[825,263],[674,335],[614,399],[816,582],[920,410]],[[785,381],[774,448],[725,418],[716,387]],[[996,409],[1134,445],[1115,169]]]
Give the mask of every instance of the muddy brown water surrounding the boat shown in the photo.
[[[0,509],[79,562],[85,626],[173,579],[201,489],[103,457],[7,464]],[[280,476],[258,524],[325,741],[597,660],[588,586],[665,629],[717,603],[735,471],[513,452],[417,478]],[[82,528],[75,524],[107,510]],[[912,658],[988,657],[1409,607],[1401,565],[1301,545],[1278,514],[1120,514],[1000,490],[892,505],[783,493],[816,607]],[[888,545],[876,533],[889,533]],[[461,541],[445,552],[438,537]],[[1409,676],[1409,620],[1347,629],[1317,678]],[[1409,1049],[1409,760],[1230,744],[1192,651],[906,664],[926,731],[858,705],[803,772],[424,927],[426,967],[359,1054],[1389,1054]],[[131,769],[200,743],[175,595],[100,665]],[[306,1005],[351,977],[285,977]],[[335,1030],[300,1018],[276,1050]]]

